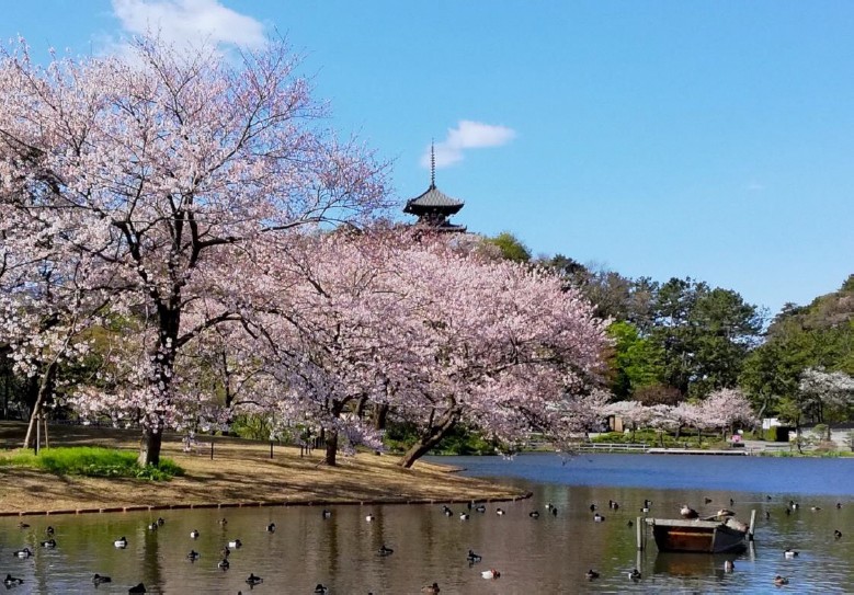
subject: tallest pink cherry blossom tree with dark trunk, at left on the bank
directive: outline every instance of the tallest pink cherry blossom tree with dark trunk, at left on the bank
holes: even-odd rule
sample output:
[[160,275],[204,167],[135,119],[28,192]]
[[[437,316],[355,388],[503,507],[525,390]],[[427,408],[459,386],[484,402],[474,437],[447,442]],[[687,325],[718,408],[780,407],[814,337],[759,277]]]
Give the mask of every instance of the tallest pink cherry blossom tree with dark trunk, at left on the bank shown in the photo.
[[[59,258],[109,268],[122,289],[111,309],[145,323],[134,377],[102,403],[139,412],[143,464],[180,409],[178,358],[243,318],[259,258],[297,226],[385,206],[385,168],[319,125],[295,68],[282,41],[237,58],[155,37],[46,68],[23,42],[0,56],[2,202],[56,230]],[[84,394],[93,409],[98,393]]]

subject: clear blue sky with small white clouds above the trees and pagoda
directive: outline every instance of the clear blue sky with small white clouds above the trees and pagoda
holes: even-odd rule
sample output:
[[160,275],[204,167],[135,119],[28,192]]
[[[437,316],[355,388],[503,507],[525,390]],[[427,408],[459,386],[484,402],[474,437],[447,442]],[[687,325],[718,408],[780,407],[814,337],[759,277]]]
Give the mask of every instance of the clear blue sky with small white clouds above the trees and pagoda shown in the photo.
[[[305,56],[332,125],[454,218],[623,275],[691,276],[775,313],[854,273],[854,3],[4,2],[39,56],[158,22]],[[401,214],[401,218],[405,218]]]

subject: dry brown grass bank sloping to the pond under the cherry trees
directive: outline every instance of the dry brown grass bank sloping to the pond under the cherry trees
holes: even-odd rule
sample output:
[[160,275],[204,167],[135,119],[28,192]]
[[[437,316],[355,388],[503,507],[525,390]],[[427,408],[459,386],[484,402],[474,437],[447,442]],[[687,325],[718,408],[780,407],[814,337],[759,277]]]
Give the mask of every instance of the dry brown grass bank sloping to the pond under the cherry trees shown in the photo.
[[[26,426],[0,422],[0,444],[16,448]],[[134,431],[50,426],[52,446],[103,445],[136,449]],[[465,478],[447,467],[415,464],[401,469],[394,456],[340,457],[338,467],[322,464],[322,453],[300,457],[299,449],[229,437],[204,436],[197,453],[184,453],[179,436],[167,435],[162,456],[185,470],[168,482],[58,477],[0,467],[0,513],[58,512],[81,508],[236,503],[304,504],[344,502],[425,502],[508,500],[524,494],[514,488]],[[210,443],[214,459],[210,459]]]

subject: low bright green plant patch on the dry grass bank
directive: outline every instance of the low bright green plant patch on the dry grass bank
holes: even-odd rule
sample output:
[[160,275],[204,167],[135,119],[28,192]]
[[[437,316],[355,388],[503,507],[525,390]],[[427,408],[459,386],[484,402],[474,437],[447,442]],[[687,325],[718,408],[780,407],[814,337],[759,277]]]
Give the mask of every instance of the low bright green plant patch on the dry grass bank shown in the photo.
[[0,466],[29,467],[57,476],[84,476],[96,478],[140,478],[167,481],[183,476],[184,470],[170,459],[160,465],[141,467],[136,453],[99,446],[43,448],[38,455],[21,451],[0,457]]

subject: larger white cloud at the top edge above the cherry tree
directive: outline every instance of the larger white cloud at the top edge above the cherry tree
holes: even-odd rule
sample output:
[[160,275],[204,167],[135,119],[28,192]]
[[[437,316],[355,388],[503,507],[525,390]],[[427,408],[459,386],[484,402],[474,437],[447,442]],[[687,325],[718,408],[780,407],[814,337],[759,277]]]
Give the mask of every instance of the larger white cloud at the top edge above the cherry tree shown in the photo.
[[217,0],[113,0],[113,12],[126,32],[156,32],[167,42],[253,48],[266,43],[259,21]]

